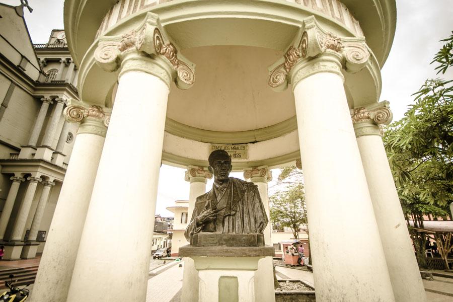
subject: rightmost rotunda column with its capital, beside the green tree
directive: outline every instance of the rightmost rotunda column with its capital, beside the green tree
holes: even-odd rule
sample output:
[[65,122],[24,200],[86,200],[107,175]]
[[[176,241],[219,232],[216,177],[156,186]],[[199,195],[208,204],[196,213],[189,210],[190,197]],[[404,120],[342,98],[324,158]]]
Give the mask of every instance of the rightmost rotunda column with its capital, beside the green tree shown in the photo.
[[425,302],[426,294],[420,270],[380,129],[375,124],[375,122],[388,124],[392,119],[388,105],[384,105],[369,111],[363,107],[354,110],[352,118],[355,122],[355,134],[395,299],[398,302]]

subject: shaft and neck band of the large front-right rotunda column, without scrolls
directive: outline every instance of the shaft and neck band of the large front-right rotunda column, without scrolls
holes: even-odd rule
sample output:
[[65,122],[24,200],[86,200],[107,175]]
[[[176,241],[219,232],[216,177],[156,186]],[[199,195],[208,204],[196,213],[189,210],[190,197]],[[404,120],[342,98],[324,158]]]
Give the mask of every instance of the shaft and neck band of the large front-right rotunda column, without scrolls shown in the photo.
[[325,54],[292,73],[316,297],[395,301],[341,67]]

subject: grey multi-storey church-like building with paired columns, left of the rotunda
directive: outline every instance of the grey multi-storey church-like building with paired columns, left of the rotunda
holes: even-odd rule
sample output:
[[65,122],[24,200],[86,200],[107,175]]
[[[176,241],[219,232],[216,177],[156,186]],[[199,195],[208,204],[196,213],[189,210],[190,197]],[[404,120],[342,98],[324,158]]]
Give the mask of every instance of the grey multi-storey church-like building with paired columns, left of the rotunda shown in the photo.
[[78,100],[77,67],[63,30],[33,45],[23,7],[0,4],[0,240],[4,259],[42,252],[77,124],[63,118]]

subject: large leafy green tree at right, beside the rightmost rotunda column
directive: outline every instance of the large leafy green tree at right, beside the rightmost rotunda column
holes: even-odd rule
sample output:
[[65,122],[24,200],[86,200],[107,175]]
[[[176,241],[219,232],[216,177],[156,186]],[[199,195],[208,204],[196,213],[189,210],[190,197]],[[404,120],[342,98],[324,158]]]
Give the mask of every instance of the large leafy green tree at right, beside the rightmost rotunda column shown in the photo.
[[[453,33],[453,32],[452,32]],[[453,35],[431,63],[444,74],[453,64]],[[453,80],[428,79],[415,103],[383,136],[406,219],[423,228],[423,216],[448,215],[453,201]],[[409,226],[419,265],[426,266],[426,238]]]

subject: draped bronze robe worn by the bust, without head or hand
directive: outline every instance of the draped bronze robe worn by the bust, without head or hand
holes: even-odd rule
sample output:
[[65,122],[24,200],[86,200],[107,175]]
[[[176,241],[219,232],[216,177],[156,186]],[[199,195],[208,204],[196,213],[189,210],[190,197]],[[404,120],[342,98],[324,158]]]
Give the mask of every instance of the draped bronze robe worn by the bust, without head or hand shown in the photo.
[[[190,242],[193,234],[261,234],[268,218],[260,198],[258,187],[238,178],[230,177],[224,190],[213,188],[197,197],[192,218],[185,237]],[[213,221],[196,225],[195,218],[208,208],[214,208],[217,217]]]

